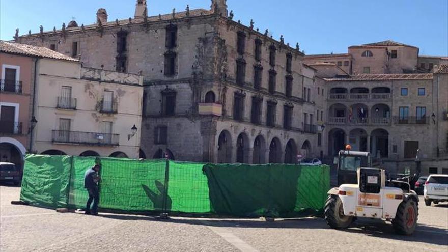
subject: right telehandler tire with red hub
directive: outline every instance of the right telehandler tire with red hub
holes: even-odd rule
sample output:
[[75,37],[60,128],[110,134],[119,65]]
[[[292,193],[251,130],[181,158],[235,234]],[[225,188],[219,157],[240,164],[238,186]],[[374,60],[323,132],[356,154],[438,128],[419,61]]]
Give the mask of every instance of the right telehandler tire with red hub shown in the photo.
[[397,209],[397,215],[392,220],[395,232],[400,235],[411,235],[417,227],[418,203],[413,199],[403,201]]

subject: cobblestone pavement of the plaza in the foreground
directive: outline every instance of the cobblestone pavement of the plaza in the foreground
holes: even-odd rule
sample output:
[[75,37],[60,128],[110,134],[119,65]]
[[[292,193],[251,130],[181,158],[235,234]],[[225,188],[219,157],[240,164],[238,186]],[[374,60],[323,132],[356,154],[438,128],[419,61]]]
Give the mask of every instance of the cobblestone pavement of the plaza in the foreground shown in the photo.
[[[412,236],[360,220],[343,231],[323,219],[216,220],[101,214],[11,205],[20,188],[0,186],[0,251],[448,251],[448,204],[420,204]],[[423,200],[421,201],[423,202]]]

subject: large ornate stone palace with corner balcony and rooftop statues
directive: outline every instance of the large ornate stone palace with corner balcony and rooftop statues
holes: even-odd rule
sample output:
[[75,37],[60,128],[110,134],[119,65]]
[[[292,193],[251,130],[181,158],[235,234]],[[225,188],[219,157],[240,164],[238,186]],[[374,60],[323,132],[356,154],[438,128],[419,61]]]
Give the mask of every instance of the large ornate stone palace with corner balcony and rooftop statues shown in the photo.
[[[304,54],[233,20],[225,0],[209,10],[147,16],[16,36],[80,59],[83,66],[144,77],[141,148],[146,157],[212,162],[288,162],[323,155],[325,82]],[[129,101],[131,102],[131,101]]]

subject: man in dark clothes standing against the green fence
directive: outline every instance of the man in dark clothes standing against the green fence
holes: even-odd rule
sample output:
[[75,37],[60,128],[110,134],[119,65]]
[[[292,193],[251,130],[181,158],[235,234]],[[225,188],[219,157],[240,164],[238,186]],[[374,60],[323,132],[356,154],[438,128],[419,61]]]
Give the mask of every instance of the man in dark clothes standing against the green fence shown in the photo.
[[[84,187],[89,192],[89,200],[86,205],[86,214],[98,215],[98,201],[99,201],[99,192],[98,192],[98,181],[100,177],[98,176],[98,172],[101,169],[99,164],[95,164],[91,169],[87,170],[84,174]],[[92,210],[90,210],[90,205],[93,206]]]

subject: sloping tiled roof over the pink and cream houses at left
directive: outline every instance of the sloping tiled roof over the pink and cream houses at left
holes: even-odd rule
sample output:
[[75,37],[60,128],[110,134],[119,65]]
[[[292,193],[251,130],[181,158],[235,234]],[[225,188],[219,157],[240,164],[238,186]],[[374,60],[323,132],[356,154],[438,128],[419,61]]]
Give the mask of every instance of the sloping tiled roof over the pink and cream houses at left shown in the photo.
[[43,57],[55,60],[80,62],[77,59],[68,57],[67,55],[55,52],[45,47],[25,45],[3,40],[0,40],[0,52],[31,56],[31,57]]

